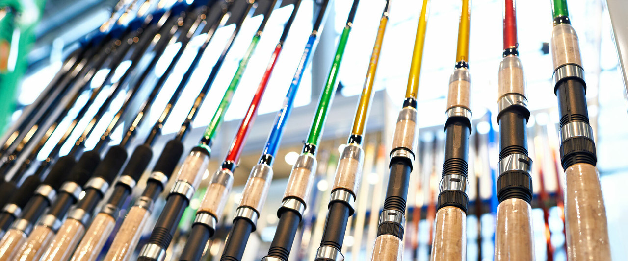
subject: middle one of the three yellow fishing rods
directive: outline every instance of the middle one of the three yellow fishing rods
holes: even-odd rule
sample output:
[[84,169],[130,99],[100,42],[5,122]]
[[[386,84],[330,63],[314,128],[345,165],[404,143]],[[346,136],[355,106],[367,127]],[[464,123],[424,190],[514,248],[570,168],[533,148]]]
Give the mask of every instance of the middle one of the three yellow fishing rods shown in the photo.
[[408,87],[406,88],[403,109],[399,111],[397,118],[393,147],[389,154],[390,178],[386,189],[384,210],[379,216],[377,238],[371,260],[401,260],[404,225],[406,223],[404,216],[406,198],[410,173],[416,158],[414,153],[418,152],[416,149],[419,141],[416,97],[419,89],[428,9],[429,0],[423,0],[419,23],[416,28]]

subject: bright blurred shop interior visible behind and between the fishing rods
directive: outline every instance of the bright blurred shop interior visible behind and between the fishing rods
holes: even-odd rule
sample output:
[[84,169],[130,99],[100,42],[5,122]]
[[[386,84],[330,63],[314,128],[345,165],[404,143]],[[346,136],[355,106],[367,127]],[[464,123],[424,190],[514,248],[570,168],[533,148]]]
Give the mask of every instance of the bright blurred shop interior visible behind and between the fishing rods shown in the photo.
[[[111,16],[118,1],[115,0],[0,0],[0,132],[17,120],[24,107],[33,103],[43,88],[60,70],[65,57],[78,46],[78,41],[97,29]],[[168,1],[166,1],[168,2]],[[174,2],[174,1],[169,1]],[[190,0],[191,2],[191,0]],[[376,224],[387,184],[387,153],[390,149],[394,121],[403,102],[408,78],[414,34],[421,1],[391,0],[390,21],[384,38],[376,77],[374,100],[365,135],[366,163],[362,186],[357,198],[356,215],[350,219],[350,229],[344,242],[347,260],[370,258],[372,243],[376,235]],[[306,68],[295,110],[287,125],[283,143],[274,164],[274,181],[260,215],[257,230],[249,239],[243,260],[259,260],[268,251],[273,238],[276,210],[281,203],[291,165],[301,151],[303,140],[309,130],[313,111],[317,107],[319,93],[332,62],[338,36],[344,28],[352,1],[337,0],[331,4],[325,21],[325,29],[313,60]],[[615,36],[605,0],[572,0],[570,16],[572,25],[580,38],[582,60],[587,78],[587,102],[592,127],[596,136],[598,169],[609,221],[610,245],[615,260],[624,260],[628,247],[628,225],[623,218],[628,215],[624,184],[628,184],[628,161],[625,160],[625,147],[628,147],[628,114],[622,71],[615,45]],[[172,4],[172,3],[169,3]],[[9,6],[10,8],[6,8]],[[347,51],[338,75],[338,91],[333,101],[330,115],[323,134],[323,143],[318,154],[320,162],[317,171],[315,196],[308,205],[306,219],[301,225],[298,242],[295,242],[291,260],[313,260],[322,235],[327,213],[329,189],[332,184],[335,164],[339,151],[350,134],[355,106],[364,84],[364,77],[371,56],[377,25],[384,1],[363,0],[354,20],[354,29],[349,37]],[[501,0],[474,0],[472,3],[470,33],[470,72],[472,77],[472,111],[474,130],[470,140],[469,176],[470,200],[467,222],[467,260],[492,260],[495,208],[495,168],[499,155],[499,126],[497,112],[497,69],[502,58],[502,8]],[[234,95],[234,100],[225,115],[219,136],[212,146],[212,162],[208,172],[218,168],[227,151],[230,141],[239,125],[239,119],[246,112],[257,83],[266,69],[266,63],[283,31],[283,23],[288,19],[293,6],[277,9],[269,19],[256,53]],[[244,154],[234,176],[232,200],[227,204],[222,225],[214,240],[208,244],[204,258],[218,260],[222,243],[232,221],[236,204],[241,196],[242,186],[257,163],[266,137],[273,125],[276,110],[283,102],[284,93],[300,60],[303,46],[310,34],[311,24],[317,12],[317,3],[304,0],[286,40],[283,55],[279,58],[271,77],[268,90],[259,107],[259,116],[249,135]],[[431,242],[431,223],[435,213],[435,201],[440,181],[443,161],[443,129],[445,99],[449,75],[455,64],[458,17],[460,1],[432,1],[428,19],[425,55],[421,70],[418,111],[420,125],[420,151],[415,162],[409,189],[407,225],[404,240],[404,260],[428,260]],[[262,21],[262,16],[247,18],[236,43],[227,56],[219,77],[214,82],[207,99],[203,103],[193,130],[185,141],[186,150],[192,148],[201,137],[205,125],[218,107],[222,93],[237,68],[242,54],[249,45],[252,35]],[[528,84],[529,109],[533,112],[529,124],[530,156],[534,161],[534,200],[533,222],[537,260],[566,260],[564,216],[561,200],[563,171],[558,156],[558,111],[557,100],[551,84],[553,65],[549,55],[548,42],[551,36],[552,20],[550,1],[517,1],[517,23],[519,53],[524,64]],[[154,146],[160,151],[163,144],[175,135],[185,118],[193,99],[202,87],[222,51],[225,41],[234,30],[234,24],[223,26],[216,31],[200,65],[190,83],[181,95],[173,110],[173,115],[163,129],[165,134]],[[301,29],[303,28],[303,29]],[[624,24],[625,29],[625,24]],[[615,32],[617,33],[617,32]],[[139,136],[148,134],[150,125],[159,117],[170,94],[176,88],[183,73],[187,70],[197,47],[204,37],[195,36],[186,48],[175,71],[171,73],[162,88],[147,124],[141,126]],[[154,82],[168,67],[169,57],[178,46],[168,46],[147,82]],[[170,55],[169,55],[170,54]],[[112,82],[116,81],[129,67],[122,62],[116,70]],[[102,84],[109,69],[96,73],[90,83],[92,88]],[[137,78],[139,75],[136,75]],[[131,79],[131,81],[136,79]],[[146,83],[145,85],[148,85]],[[124,100],[124,90],[111,105],[111,111],[104,116],[111,118]],[[85,102],[89,93],[84,93],[77,104]],[[105,95],[102,95],[105,96]],[[90,119],[102,104],[105,97],[99,97],[90,107],[85,119]],[[67,125],[80,107],[70,110]],[[100,133],[107,126],[104,120],[97,126]],[[87,125],[87,120],[79,123],[70,137],[74,141]],[[124,125],[127,125],[125,122]],[[65,129],[65,128],[62,128]],[[118,128],[112,136],[112,144],[122,137]],[[99,132],[100,130],[100,132]],[[38,159],[44,159],[54,147],[62,133],[54,133],[51,142],[41,150]],[[141,139],[139,139],[141,140]],[[87,141],[87,149],[94,146],[97,137]],[[139,141],[138,141],[139,142]],[[72,142],[66,142],[61,155],[67,154]],[[130,147],[135,147],[130,146]],[[148,173],[147,173],[148,174]],[[146,175],[145,175],[146,176]],[[144,177],[145,179],[145,177]],[[204,180],[203,184],[206,184]],[[143,190],[140,181],[135,193]],[[203,186],[201,186],[203,188]],[[166,190],[168,191],[168,190]],[[186,233],[192,223],[195,207],[200,203],[203,189],[192,200],[190,208],[181,221],[178,237],[173,240],[168,257],[178,257],[176,252],[185,245]],[[137,198],[137,197],[135,197]],[[163,201],[161,203],[163,205]],[[160,209],[158,206],[156,209]],[[158,213],[158,211],[156,211]],[[124,213],[121,213],[124,216]],[[156,216],[153,216],[156,218]],[[152,226],[151,226],[152,228]],[[146,232],[144,240],[148,238]],[[143,243],[140,243],[143,245]]]

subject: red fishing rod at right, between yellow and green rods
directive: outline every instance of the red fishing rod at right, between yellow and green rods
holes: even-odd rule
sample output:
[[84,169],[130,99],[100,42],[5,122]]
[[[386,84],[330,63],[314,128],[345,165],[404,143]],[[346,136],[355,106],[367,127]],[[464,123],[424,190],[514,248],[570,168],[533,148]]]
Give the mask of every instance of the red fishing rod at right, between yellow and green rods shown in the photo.
[[[499,65],[500,153],[497,178],[495,260],[534,259],[532,159],[528,155],[530,117],[526,84],[517,47],[515,0],[504,4],[504,52]],[[543,181],[541,181],[543,186]],[[543,189],[544,190],[544,189]],[[543,204],[543,203],[542,203]]]

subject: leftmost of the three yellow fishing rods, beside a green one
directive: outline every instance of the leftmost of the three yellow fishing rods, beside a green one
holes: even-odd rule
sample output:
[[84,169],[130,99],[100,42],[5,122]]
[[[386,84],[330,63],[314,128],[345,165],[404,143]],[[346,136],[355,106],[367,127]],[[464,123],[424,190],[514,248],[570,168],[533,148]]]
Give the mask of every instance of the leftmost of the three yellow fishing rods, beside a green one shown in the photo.
[[364,129],[373,97],[377,61],[379,61],[379,53],[384,41],[384,33],[386,33],[389,8],[390,4],[387,0],[382,16],[379,19],[379,29],[377,30],[371,61],[369,62],[364,87],[362,88],[362,95],[360,95],[360,102],[355,112],[352,131],[347,145],[338,159],[338,167],[335,172],[328,204],[325,230],[323,231],[323,237],[315,259],[317,261],[340,261],[344,259],[342,243],[345,239],[347,225],[349,225],[349,217],[355,213],[354,204],[362,179],[362,168],[364,166],[362,139],[364,138]]

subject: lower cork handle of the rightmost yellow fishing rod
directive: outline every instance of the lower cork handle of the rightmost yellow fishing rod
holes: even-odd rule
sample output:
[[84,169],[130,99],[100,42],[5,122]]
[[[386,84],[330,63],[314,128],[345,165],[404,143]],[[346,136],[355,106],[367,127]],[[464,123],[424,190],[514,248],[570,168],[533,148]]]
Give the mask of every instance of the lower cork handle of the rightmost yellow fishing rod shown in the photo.
[[467,215],[453,206],[436,212],[431,261],[467,260]]

